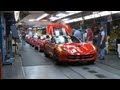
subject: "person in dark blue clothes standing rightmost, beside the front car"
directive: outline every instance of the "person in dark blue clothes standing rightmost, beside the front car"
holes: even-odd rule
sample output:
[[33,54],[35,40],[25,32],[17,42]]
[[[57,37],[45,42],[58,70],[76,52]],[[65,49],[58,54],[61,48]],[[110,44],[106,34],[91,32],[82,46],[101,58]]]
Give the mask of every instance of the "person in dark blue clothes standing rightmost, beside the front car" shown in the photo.
[[106,33],[104,26],[100,27],[98,34],[97,46],[98,46],[98,57],[100,60],[105,59],[105,42],[106,42]]

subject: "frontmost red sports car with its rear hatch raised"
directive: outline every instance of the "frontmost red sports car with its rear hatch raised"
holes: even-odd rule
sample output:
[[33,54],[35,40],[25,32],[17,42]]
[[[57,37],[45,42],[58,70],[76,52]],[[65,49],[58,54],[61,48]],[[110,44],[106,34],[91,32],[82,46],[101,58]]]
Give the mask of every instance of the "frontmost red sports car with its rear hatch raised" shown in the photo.
[[[60,62],[94,63],[97,58],[95,46],[90,43],[80,42],[76,37],[71,36],[71,29],[69,27],[65,28],[67,25],[63,26],[59,26],[59,24],[49,25],[47,33],[52,38],[45,41],[45,56],[53,57],[55,64],[59,64]],[[63,28],[61,29],[63,30],[62,33],[60,28]],[[57,32],[55,33],[55,31]]]

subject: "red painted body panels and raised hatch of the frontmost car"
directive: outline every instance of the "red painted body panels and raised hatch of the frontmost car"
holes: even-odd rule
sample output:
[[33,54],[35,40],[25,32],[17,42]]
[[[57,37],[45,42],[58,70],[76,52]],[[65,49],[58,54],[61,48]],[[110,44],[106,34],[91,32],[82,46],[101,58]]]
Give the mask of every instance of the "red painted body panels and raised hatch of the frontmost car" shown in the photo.
[[[54,37],[54,27],[63,27],[67,33],[67,36],[71,36],[71,29],[64,24],[50,24],[47,26],[46,33]],[[50,40],[45,41],[44,52],[53,57],[57,54],[59,62],[77,62],[77,61],[95,61],[97,57],[97,51],[95,47],[90,43],[64,43],[56,44]]]

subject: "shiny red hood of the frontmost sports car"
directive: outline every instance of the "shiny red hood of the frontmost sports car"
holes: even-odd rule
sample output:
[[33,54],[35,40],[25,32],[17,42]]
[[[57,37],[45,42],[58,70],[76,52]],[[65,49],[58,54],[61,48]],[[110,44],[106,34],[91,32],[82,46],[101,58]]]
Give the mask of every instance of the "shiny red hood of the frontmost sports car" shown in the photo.
[[90,54],[95,51],[94,46],[90,43],[66,43],[61,48],[73,55]]

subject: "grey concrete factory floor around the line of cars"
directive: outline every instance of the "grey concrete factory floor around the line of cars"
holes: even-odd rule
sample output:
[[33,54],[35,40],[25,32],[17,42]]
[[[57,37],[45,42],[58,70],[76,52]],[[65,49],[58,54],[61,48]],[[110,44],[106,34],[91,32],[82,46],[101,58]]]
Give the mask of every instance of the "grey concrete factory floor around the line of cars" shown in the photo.
[[43,53],[25,44],[12,65],[2,67],[3,79],[120,79],[120,59],[107,55],[94,65],[53,64]]

